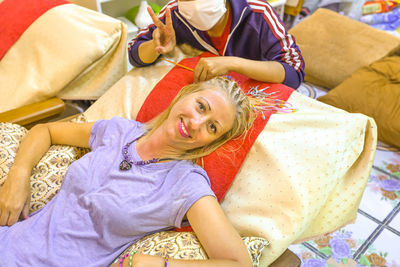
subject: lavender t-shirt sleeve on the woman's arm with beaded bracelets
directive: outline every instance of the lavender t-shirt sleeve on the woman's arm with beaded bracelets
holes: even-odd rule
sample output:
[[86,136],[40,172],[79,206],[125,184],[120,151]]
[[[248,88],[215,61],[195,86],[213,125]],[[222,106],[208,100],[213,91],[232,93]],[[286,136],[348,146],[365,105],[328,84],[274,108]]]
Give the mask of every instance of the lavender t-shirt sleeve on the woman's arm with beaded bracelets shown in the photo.
[[172,223],[178,228],[181,227],[182,219],[186,212],[197,200],[205,196],[216,198],[211,190],[210,180],[206,172],[200,167],[180,178],[180,184],[176,187],[174,194],[177,210],[175,221]]

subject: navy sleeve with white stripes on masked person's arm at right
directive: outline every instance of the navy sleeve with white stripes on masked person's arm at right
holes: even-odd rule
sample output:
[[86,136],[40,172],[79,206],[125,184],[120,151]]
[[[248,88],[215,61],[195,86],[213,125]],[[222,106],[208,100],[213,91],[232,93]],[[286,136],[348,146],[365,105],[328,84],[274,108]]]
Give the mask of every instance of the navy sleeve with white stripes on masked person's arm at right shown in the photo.
[[285,69],[284,84],[292,88],[304,80],[304,60],[294,37],[289,34],[270,4],[263,0],[248,1],[250,8],[263,18],[260,35],[263,57],[282,63]]

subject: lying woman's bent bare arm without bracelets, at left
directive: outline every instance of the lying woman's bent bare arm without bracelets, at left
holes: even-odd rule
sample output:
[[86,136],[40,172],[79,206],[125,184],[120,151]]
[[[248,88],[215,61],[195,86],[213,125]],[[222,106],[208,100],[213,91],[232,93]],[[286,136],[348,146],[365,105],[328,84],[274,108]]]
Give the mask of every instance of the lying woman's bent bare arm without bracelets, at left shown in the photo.
[[89,147],[93,123],[55,122],[34,126],[22,139],[14,164],[0,188],[0,226],[26,218],[30,202],[30,175],[51,145]]

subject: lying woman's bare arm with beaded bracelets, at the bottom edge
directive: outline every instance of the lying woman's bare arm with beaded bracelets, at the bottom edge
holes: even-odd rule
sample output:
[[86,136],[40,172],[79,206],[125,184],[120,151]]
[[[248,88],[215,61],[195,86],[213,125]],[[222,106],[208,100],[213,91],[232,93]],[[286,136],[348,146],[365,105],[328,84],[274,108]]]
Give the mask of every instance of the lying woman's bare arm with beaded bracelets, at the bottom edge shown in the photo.
[[[168,267],[251,267],[252,262],[243,240],[226,218],[217,200],[206,196],[188,210],[187,218],[205,249],[209,260],[169,259]],[[112,267],[118,267],[119,263]],[[124,260],[128,267],[128,259]],[[164,267],[161,257],[135,254],[134,267]]]

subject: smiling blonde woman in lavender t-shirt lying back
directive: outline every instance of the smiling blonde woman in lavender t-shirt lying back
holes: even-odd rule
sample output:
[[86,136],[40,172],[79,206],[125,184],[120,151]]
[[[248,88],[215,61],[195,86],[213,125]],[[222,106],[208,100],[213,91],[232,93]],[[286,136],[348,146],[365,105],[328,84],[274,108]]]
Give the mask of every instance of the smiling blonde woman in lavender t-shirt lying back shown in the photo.
[[[185,216],[209,260],[131,253],[112,266],[251,266],[207,174],[193,162],[245,133],[253,119],[239,86],[215,78],[183,87],[145,124],[116,117],[33,127],[0,189],[0,266],[108,266],[133,242],[180,227]],[[31,170],[52,144],[91,152],[28,217]]]

